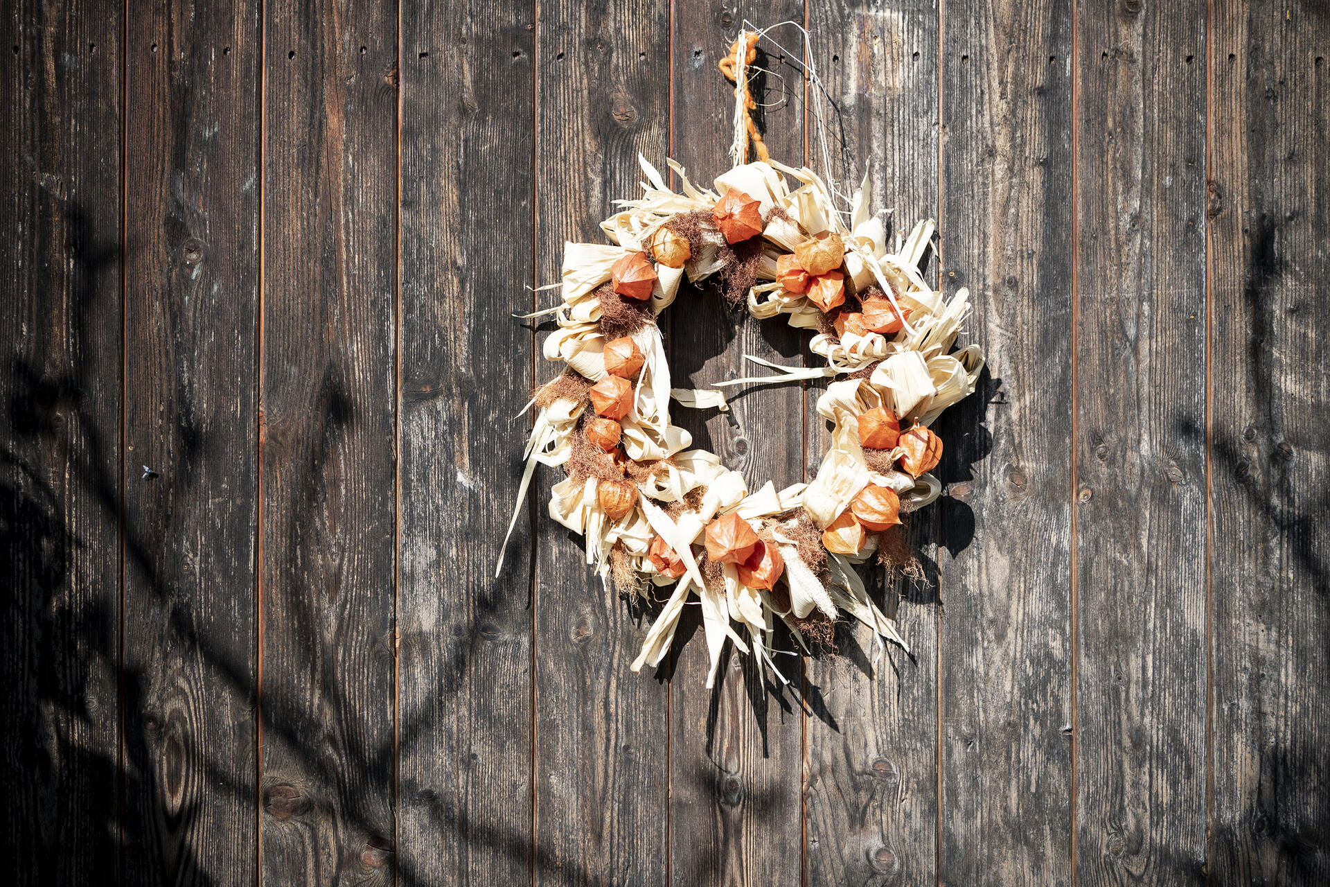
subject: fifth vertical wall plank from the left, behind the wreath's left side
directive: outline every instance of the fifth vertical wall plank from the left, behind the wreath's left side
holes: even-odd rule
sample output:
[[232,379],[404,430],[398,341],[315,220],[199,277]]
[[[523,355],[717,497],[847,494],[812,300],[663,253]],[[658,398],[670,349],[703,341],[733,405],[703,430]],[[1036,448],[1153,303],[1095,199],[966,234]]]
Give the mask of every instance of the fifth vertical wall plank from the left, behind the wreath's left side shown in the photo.
[[[536,267],[549,283],[559,281],[564,241],[604,242],[600,219],[612,201],[638,193],[638,152],[665,153],[669,4],[543,3],[536,33]],[[557,370],[537,362],[540,380]],[[539,472],[531,505],[539,516],[535,880],[661,883],[666,688],[628,668],[645,620],[601,588],[581,537],[545,516],[549,484],[561,479]]]

